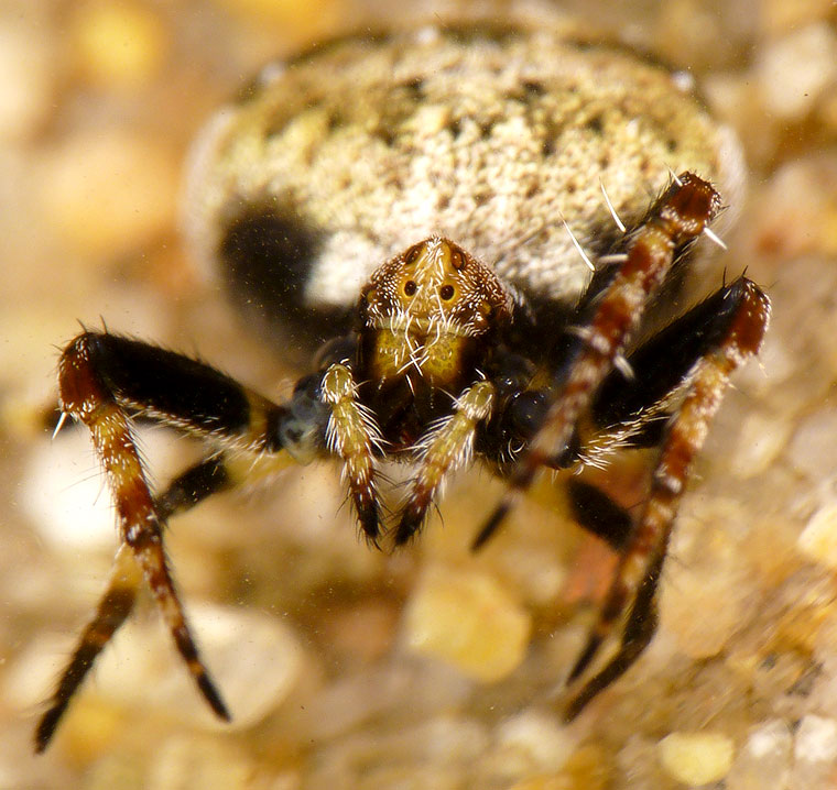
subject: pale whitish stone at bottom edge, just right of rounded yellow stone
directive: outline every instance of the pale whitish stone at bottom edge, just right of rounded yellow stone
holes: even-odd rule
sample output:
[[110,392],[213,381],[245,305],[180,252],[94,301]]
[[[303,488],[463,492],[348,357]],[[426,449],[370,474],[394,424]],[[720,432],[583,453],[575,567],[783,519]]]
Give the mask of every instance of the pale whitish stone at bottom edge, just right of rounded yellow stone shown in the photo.
[[793,735],[785,722],[773,720],[750,731],[727,777],[728,790],[783,790],[791,775]]

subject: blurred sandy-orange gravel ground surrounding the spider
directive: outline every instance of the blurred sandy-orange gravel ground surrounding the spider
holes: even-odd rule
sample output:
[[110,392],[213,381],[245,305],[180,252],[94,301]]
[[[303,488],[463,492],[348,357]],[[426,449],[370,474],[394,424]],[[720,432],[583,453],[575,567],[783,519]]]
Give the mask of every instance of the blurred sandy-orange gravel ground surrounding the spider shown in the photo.
[[[837,7],[401,6],[0,4],[0,788],[837,786]],[[357,539],[335,469],[290,470],[170,534],[233,724],[203,710],[145,602],[33,757],[116,548],[88,438],[50,442],[33,419],[62,345],[79,321],[106,323],[276,397],[298,375],[182,248],[200,124],[264,62],[335,33],[563,13],[688,69],[738,130],[749,197],[706,288],[747,268],[774,307],[684,503],[646,656],[561,724],[612,558],[567,524],[548,480],[477,559],[468,541],[500,487],[476,473],[450,486],[444,528],[385,557]],[[195,457],[164,430],[141,441],[159,481]]]

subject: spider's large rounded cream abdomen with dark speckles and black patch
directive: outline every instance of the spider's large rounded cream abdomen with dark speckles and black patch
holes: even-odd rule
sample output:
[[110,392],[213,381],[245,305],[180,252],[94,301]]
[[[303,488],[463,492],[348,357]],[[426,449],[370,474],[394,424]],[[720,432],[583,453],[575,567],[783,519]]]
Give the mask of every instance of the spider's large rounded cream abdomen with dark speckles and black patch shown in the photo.
[[670,173],[738,198],[741,161],[683,80],[624,48],[514,26],[348,37],[265,69],[209,124],[187,229],[233,299],[309,348],[348,328],[381,261],[444,235],[542,303]]

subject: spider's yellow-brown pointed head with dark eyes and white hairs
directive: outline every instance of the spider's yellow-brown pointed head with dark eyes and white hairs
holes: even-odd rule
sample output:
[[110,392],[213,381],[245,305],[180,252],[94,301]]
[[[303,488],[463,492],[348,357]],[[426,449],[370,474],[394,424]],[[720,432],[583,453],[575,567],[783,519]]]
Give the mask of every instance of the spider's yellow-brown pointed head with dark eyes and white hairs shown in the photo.
[[453,241],[431,237],[380,266],[360,298],[381,380],[417,372],[435,386],[465,373],[474,351],[511,316],[500,278]]

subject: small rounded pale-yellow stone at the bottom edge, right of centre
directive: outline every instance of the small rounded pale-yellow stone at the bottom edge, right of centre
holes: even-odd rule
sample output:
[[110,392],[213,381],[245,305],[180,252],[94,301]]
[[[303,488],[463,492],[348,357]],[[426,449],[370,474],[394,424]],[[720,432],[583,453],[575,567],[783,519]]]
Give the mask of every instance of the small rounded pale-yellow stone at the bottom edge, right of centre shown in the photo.
[[722,733],[672,733],[659,744],[665,771],[697,787],[724,779],[732,766],[732,739]]

